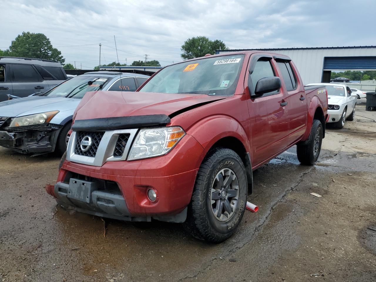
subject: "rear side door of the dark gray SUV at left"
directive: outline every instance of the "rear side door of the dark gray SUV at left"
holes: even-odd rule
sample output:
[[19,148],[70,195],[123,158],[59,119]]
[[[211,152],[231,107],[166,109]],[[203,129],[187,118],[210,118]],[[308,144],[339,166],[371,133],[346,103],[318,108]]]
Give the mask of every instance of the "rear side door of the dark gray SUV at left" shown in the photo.
[[12,74],[13,95],[26,97],[49,89],[47,82],[33,65],[9,64]]

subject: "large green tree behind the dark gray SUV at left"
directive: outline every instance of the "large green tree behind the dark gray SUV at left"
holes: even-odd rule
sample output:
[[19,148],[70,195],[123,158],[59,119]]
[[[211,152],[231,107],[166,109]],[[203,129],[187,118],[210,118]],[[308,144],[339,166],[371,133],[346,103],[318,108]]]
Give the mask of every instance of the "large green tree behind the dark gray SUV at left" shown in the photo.
[[18,35],[9,46],[8,56],[48,59],[61,64],[65,61],[61,52],[52,47],[50,39],[43,33],[23,32]]

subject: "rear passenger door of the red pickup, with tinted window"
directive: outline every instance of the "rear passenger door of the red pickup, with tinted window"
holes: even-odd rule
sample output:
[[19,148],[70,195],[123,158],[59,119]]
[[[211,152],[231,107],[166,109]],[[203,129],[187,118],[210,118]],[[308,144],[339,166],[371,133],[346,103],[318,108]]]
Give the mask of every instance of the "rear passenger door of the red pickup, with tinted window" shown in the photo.
[[305,133],[307,122],[307,100],[304,87],[298,85],[297,76],[291,65],[291,60],[284,56],[275,56],[282,84],[287,91],[286,108],[289,116],[289,141],[290,144],[297,141]]

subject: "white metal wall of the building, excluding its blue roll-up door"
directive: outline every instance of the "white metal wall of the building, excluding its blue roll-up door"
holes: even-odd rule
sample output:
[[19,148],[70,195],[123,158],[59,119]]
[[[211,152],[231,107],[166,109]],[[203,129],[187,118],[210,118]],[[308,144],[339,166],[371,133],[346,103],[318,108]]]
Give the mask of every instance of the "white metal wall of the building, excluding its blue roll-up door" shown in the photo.
[[[255,49],[249,49],[255,50]],[[376,56],[376,48],[322,48],[322,49],[258,49],[289,56],[295,63],[303,83],[321,82],[324,57]],[[220,50],[219,53],[235,50]]]

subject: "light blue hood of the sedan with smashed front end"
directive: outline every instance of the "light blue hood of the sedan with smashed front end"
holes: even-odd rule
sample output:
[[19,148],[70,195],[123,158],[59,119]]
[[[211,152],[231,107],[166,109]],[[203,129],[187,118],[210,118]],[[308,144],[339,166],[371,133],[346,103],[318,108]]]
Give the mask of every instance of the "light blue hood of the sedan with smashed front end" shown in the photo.
[[0,102],[0,117],[19,117],[50,111],[76,109],[80,99],[34,96]]

